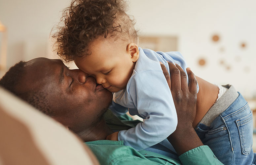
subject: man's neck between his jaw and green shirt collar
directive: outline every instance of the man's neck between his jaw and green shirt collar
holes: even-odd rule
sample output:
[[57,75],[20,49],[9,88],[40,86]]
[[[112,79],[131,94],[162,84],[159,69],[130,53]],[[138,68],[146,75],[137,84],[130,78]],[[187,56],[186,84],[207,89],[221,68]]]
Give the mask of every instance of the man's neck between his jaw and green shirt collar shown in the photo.
[[106,121],[102,119],[98,124],[92,128],[77,133],[85,142],[95,141],[95,140],[105,140],[108,135],[113,133],[113,131],[107,126]]

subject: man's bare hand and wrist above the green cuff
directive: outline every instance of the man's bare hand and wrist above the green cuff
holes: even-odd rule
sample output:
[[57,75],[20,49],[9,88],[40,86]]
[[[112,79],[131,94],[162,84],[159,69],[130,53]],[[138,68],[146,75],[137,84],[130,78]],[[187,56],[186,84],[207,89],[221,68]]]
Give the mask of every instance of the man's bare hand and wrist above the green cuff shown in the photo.
[[181,155],[186,151],[203,145],[192,126],[197,109],[197,80],[194,73],[187,69],[188,85],[187,75],[184,70],[178,65],[168,64],[170,76],[165,65],[161,64],[161,67],[171,90],[177,111],[178,124],[176,130],[167,139],[177,154]]

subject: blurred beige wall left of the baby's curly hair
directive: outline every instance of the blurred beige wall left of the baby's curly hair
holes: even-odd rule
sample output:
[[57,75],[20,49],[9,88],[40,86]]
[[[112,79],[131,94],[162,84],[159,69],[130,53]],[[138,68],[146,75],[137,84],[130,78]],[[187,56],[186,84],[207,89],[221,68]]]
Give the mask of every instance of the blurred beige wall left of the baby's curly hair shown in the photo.
[[19,60],[53,57],[50,32],[70,0],[0,0],[0,20],[8,29],[8,67]]

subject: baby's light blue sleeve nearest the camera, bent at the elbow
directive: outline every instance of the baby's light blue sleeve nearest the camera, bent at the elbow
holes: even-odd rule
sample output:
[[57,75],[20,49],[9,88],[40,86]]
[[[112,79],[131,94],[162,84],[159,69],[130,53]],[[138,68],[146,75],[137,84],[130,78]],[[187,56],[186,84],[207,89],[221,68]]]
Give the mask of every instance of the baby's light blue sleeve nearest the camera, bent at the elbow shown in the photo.
[[120,131],[118,140],[139,151],[163,141],[174,132],[177,114],[162,71],[145,71],[131,78],[127,92],[144,120],[133,128]]

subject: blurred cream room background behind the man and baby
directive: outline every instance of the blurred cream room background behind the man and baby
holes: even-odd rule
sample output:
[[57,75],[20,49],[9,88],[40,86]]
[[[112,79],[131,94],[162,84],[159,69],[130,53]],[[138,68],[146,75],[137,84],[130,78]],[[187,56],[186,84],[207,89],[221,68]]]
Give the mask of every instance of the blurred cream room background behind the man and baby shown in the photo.
[[[51,30],[70,0],[1,0],[1,76],[19,60],[57,58]],[[128,0],[140,46],[180,51],[201,78],[233,84],[256,109],[255,0]]]

